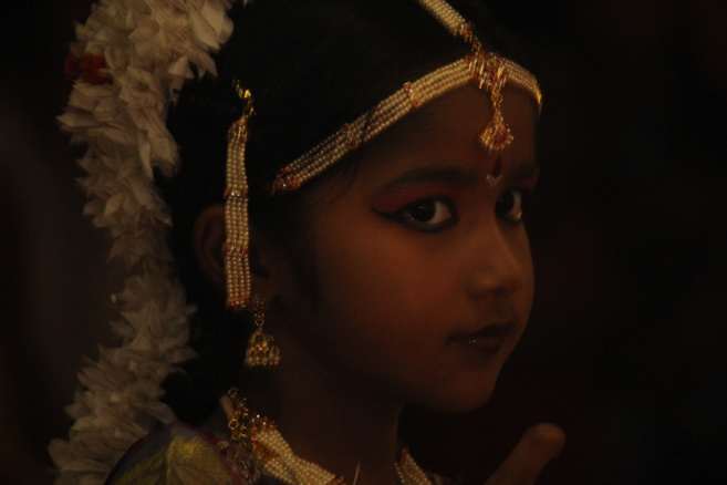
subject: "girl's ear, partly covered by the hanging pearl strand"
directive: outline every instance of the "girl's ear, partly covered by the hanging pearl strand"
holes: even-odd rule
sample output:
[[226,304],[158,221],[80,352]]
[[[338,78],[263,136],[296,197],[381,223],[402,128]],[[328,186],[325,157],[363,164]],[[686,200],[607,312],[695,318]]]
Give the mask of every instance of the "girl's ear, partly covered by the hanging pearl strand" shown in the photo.
[[[215,204],[206,207],[197,220],[193,233],[197,265],[202,275],[221,291],[226,289],[225,278],[225,206]],[[278,292],[276,276],[281,271],[284,258],[280,249],[268,241],[262,233],[250,227],[250,274],[252,289],[270,301]]]

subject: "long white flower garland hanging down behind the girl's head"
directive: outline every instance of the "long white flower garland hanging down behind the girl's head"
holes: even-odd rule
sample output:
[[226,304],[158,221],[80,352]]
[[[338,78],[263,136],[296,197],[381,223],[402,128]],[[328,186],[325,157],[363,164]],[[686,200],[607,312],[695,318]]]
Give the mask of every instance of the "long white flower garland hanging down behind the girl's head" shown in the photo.
[[216,74],[209,52],[230,37],[227,10],[235,0],[101,0],[77,27],[79,58],[101,56],[110,82],[75,82],[59,116],[72,142],[87,145],[80,165],[89,193],[85,214],[113,239],[111,259],[126,271],[112,300],[122,343],[102,348],[79,373],[82,389],[67,412],[69,441],[50,453],[58,483],[102,484],[123,453],[175,414],[159,399],[175,365],[194,357],[187,347],[185,289],[175,277],[167,245],[169,209],[153,171],[174,174],[177,146],[166,109],[187,79]]

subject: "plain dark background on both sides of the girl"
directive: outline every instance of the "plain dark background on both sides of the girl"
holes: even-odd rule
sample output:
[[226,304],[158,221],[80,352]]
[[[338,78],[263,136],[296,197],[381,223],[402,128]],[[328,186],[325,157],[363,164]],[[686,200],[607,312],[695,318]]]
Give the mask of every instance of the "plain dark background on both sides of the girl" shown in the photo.
[[[259,0],[263,1],[263,0]],[[528,221],[531,323],[491,402],[409,410],[425,465],[481,483],[532,423],[569,442],[541,484],[727,476],[727,2],[489,1],[546,94]],[[0,22],[0,483],[49,483],[80,355],[106,336],[105,240],[54,115],[89,0]]]

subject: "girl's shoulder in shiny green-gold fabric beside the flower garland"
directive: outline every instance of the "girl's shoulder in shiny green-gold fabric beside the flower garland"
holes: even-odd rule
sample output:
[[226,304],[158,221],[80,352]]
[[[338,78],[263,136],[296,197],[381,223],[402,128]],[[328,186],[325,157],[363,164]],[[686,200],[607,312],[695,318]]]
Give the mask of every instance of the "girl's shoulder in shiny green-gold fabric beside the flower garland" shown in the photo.
[[238,446],[175,422],[136,442],[106,484],[276,485]]

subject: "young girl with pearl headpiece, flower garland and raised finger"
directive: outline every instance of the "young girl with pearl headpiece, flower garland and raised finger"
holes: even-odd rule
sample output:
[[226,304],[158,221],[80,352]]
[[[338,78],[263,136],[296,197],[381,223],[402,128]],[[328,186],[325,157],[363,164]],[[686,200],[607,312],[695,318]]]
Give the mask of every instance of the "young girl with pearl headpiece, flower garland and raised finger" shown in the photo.
[[[127,278],[60,482],[444,483],[397,421],[485,403],[525,329],[538,83],[476,4],[243,3],[79,29],[61,121]],[[488,483],[562,442],[533,427]]]

